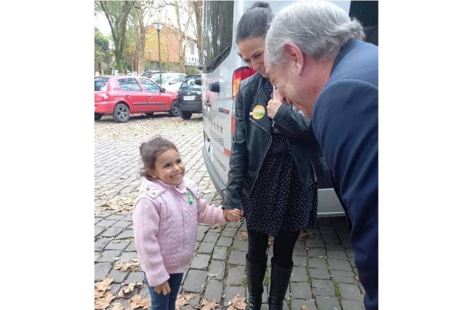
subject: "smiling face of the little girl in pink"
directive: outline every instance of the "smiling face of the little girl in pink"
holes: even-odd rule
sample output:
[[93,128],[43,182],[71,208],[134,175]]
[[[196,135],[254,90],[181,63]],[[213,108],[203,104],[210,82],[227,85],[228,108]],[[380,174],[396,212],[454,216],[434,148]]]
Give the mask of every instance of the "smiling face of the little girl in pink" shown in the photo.
[[186,167],[179,152],[169,149],[156,158],[155,169],[152,169],[150,174],[165,183],[179,185],[184,179],[185,172]]

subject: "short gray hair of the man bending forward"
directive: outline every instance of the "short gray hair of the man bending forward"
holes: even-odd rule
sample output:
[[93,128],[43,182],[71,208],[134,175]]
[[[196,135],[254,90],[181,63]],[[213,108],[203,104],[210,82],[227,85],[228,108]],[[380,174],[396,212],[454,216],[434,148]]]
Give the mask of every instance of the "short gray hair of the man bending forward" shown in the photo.
[[284,63],[283,47],[296,44],[315,60],[337,56],[350,39],[364,40],[361,23],[335,4],[296,2],[279,11],[266,35],[267,61],[270,66]]

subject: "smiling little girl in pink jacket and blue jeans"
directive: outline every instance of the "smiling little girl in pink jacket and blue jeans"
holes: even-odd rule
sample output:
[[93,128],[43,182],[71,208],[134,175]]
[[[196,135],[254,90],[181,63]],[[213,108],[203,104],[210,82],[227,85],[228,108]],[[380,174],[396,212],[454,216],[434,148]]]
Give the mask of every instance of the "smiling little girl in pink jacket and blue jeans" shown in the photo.
[[239,220],[239,210],[210,206],[184,177],[178,149],[162,137],[140,146],[144,164],[133,208],[135,246],[150,289],[152,309],[174,310],[183,272],[189,267],[197,223]]

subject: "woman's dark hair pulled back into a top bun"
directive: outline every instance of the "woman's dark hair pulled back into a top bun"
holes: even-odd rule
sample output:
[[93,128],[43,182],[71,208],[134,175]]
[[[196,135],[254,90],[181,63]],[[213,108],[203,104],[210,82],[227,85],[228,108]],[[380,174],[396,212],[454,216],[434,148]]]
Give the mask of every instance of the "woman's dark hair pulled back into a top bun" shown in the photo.
[[238,21],[236,43],[251,38],[266,37],[272,11],[267,2],[257,2]]

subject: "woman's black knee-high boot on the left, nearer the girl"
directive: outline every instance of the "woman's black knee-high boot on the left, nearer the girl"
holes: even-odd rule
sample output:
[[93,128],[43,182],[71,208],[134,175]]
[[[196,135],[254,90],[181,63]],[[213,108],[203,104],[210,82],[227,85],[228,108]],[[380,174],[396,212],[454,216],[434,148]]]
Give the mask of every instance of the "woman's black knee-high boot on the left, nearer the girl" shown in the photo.
[[266,273],[266,259],[253,264],[246,257],[246,283],[248,285],[248,310],[260,310],[263,280]]

